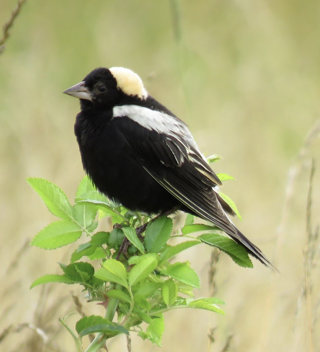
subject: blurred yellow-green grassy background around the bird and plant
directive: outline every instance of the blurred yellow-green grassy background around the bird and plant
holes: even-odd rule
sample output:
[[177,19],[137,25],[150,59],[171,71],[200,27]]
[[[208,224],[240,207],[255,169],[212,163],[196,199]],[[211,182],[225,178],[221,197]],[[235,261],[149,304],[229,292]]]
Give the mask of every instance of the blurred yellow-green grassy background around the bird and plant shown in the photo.
[[[1,0],[1,26],[16,5]],[[61,92],[99,66],[138,73],[206,156],[223,157],[212,166],[236,178],[223,188],[243,217],[235,224],[280,271],[221,254],[210,279],[210,248],[188,250],[178,259],[201,277],[196,297],[215,285],[226,316],[175,310],[162,350],[133,336],[133,351],[320,350],[319,15],[316,0],[26,1],[0,54],[0,350],[73,351],[58,322],[75,311],[70,290],[86,314],[103,314],[79,287],[29,290],[75,247],[28,246],[55,218],[25,181],[46,178],[72,201],[84,175],[79,103]],[[109,351],[125,346],[118,337]]]

